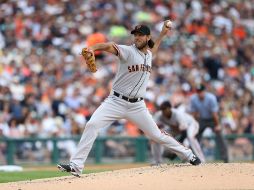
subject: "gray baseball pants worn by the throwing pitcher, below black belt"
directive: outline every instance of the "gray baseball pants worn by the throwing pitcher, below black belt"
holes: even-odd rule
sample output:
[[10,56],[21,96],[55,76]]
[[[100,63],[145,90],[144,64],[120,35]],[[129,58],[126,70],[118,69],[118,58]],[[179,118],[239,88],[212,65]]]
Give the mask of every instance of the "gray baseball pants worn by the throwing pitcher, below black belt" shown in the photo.
[[184,161],[189,161],[194,155],[191,149],[177,142],[172,136],[160,131],[143,100],[130,103],[119,97],[110,95],[97,108],[91,119],[87,122],[77,150],[70,159],[70,164],[76,171],[82,172],[84,163],[99,130],[119,119],[132,121],[148,138],[164,145],[165,148],[168,148]]

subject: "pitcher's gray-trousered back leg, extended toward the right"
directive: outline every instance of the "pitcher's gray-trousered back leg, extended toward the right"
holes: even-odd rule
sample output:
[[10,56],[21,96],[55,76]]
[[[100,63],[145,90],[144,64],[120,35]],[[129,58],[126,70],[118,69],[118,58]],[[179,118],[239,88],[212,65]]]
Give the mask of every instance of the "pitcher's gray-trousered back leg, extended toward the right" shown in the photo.
[[164,145],[182,160],[190,161],[194,158],[194,154],[189,148],[184,147],[172,136],[160,131],[143,101],[135,103],[131,108],[126,118],[134,122],[149,138]]

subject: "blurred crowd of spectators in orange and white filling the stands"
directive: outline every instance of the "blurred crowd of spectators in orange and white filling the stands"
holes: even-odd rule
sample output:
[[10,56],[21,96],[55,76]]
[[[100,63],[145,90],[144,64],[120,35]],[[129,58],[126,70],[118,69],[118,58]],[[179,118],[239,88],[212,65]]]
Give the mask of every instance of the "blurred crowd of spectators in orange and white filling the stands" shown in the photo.
[[[97,52],[91,74],[83,47],[114,41],[131,44],[138,23],[159,34],[174,30],[153,61],[146,94],[151,112],[165,99],[185,105],[203,82],[220,102],[225,134],[254,133],[253,0],[10,0],[0,4],[0,136],[81,134],[108,96],[115,56]],[[120,120],[102,135],[137,136]]]

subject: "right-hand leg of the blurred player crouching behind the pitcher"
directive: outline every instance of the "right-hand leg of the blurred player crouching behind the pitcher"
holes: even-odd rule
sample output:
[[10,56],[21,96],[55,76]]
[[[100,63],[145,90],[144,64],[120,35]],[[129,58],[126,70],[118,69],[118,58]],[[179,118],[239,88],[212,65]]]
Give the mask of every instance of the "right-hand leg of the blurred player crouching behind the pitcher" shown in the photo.
[[205,156],[196,138],[198,130],[199,130],[198,123],[197,122],[191,123],[187,129],[187,137],[193,152],[200,158],[202,163],[205,163]]

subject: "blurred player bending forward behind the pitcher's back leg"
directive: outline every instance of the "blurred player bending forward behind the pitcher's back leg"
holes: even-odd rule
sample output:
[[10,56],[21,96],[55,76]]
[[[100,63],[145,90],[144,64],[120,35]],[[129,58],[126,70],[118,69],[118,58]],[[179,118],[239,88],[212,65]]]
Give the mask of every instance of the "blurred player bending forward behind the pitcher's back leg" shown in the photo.
[[[205,156],[201,150],[200,144],[196,138],[199,131],[198,122],[188,113],[172,108],[169,101],[165,101],[160,105],[160,110],[154,114],[154,120],[160,128],[170,129],[172,136],[186,132],[190,147],[194,153],[200,158],[201,162],[205,162]],[[162,162],[163,148],[159,143],[151,143],[153,164]]]

